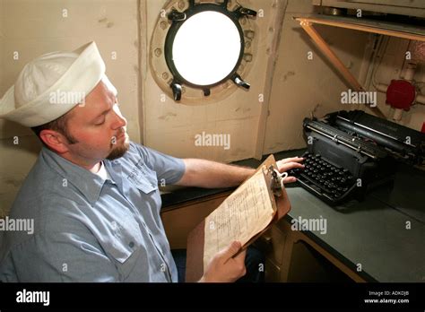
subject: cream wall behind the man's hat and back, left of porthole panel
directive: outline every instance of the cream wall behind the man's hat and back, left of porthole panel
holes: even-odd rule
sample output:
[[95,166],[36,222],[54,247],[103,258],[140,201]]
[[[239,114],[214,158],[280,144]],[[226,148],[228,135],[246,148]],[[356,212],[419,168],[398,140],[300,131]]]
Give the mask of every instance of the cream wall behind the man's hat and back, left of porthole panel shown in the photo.
[[[137,0],[0,0],[0,21],[2,96],[34,57],[95,40],[119,91],[128,133],[140,142]],[[14,51],[19,52],[18,60],[13,60]],[[19,138],[17,145],[14,136]],[[0,215],[10,208],[39,147],[30,130],[0,120]]]

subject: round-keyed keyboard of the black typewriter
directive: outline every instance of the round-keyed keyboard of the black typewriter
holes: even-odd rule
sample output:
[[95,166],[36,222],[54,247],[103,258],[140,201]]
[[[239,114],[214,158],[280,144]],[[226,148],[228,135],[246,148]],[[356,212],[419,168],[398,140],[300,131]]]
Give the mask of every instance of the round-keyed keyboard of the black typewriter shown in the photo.
[[338,204],[356,188],[356,179],[348,169],[334,166],[319,154],[306,153],[304,169],[291,169],[290,176],[313,195],[328,204]]

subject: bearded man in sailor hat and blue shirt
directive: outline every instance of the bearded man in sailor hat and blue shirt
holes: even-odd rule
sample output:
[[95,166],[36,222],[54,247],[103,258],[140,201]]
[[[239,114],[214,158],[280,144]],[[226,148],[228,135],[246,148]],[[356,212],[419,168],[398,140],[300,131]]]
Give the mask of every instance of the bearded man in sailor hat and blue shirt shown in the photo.
[[[34,233],[6,233],[4,282],[178,282],[158,182],[237,186],[253,173],[131,143],[94,42],[26,65],[1,100],[0,117],[30,126],[44,145],[10,214],[34,220]],[[280,169],[302,167],[299,161],[281,160]],[[243,276],[239,249],[233,242],[216,255],[200,282]]]

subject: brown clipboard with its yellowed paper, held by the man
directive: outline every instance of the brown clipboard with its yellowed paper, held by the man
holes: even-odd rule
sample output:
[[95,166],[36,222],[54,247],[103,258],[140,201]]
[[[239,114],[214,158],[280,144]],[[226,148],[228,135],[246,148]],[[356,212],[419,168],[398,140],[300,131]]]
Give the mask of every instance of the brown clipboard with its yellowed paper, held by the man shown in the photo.
[[273,195],[271,169],[277,169],[273,155],[189,233],[186,282],[200,279],[212,257],[232,241],[247,247],[273,220],[289,212],[291,204],[284,188],[282,196]]

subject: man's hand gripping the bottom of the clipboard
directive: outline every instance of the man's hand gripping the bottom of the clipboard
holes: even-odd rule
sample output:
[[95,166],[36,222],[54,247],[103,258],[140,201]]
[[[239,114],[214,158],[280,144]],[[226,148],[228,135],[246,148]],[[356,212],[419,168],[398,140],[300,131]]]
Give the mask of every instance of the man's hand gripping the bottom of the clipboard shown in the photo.
[[199,282],[235,282],[244,276],[247,273],[245,267],[247,250],[235,256],[241,247],[239,241],[234,241],[229,247],[217,253],[206,267],[204,276]]

